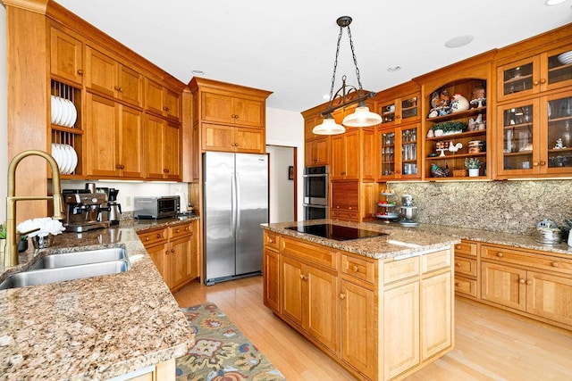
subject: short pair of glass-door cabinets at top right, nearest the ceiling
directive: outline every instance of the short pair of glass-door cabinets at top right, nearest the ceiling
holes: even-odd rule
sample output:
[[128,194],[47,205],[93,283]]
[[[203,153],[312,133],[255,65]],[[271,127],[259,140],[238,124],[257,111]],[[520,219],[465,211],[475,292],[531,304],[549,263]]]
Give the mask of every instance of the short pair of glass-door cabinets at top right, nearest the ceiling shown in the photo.
[[497,67],[498,101],[572,86],[572,45]]

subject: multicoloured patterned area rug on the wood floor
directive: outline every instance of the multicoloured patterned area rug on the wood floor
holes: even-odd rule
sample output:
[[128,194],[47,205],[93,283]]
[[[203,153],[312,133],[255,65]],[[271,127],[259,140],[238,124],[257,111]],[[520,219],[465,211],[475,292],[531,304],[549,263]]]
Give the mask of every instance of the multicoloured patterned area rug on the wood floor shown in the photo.
[[181,311],[195,330],[195,346],[177,359],[177,380],[285,379],[214,303]]

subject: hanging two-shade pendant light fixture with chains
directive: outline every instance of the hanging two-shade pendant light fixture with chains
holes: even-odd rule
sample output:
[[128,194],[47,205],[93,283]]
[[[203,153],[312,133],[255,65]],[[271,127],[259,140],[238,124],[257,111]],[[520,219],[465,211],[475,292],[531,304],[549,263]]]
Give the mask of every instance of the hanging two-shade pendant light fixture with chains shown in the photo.
[[[361,86],[361,79],[359,77],[359,69],[357,68],[356,53],[354,52],[354,43],[351,39],[351,30],[349,29],[349,24],[351,24],[351,17],[341,16],[336,21],[340,27],[340,34],[338,35],[338,44],[336,47],[336,59],[333,62],[333,75],[332,75],[332,86],[330,87],[330,101],[326,107],[326,110],[321,113],[324,117],[324,121],[315,126],[312,132],[315,135],[337,135],[343,134],[346,130],[343,126],[348,127],[369,127],[374,126],[382,122],[382,117],[375,112],[370,112],[369,107],[365,100],[367,98],[374,97],[375,93],[368,92]],[[338,67],[338,55],[340,54],[340,43],[341,35],[343,34],[343,29],[348,28],[349,46],[351,47],[351,55],[354,60],[354,65],[356,66],[357,75],[357,87],[346,85],[346,76],[344,75],[342,80],[342,85],[340,89],[333,94],[333,86],[336,80],[336,69]],[[341,122],[342,125],[336,123],[333,119],[332,112],[347,107],[350,104],[357,104],[356,111],[346,116]]]

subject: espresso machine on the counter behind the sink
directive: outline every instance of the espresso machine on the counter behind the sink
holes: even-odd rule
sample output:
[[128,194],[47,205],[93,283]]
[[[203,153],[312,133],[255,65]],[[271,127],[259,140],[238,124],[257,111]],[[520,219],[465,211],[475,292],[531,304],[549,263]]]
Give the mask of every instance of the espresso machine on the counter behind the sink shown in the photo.
[[63,189],[66,231],[83,232],[94,228],[109,228],[107,195],[90,193],[89,189]]

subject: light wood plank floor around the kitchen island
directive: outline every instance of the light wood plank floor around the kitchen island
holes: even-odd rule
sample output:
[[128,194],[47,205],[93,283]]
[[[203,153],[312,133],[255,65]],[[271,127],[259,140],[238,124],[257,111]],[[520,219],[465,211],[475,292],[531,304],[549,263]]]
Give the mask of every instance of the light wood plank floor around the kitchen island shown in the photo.
[[[181,307],[214,302],[290,381],[354,379],[265,308],[262,277],[195,283],[174,296]],[[572,380],[571,332],[461,298],[455,319],[455,349],[408,381]]]

